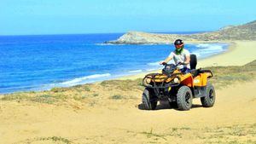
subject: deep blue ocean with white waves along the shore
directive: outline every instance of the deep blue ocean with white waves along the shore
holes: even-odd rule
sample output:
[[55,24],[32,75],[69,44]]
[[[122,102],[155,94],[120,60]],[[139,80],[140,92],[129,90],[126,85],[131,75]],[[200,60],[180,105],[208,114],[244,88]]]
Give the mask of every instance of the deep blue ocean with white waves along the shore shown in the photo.
[[[0,93],[45,90],[159,69],[170,44],[114,45],[123,33],[1,36]],[[225,43],[186,44],[199,59],[223,53]]]

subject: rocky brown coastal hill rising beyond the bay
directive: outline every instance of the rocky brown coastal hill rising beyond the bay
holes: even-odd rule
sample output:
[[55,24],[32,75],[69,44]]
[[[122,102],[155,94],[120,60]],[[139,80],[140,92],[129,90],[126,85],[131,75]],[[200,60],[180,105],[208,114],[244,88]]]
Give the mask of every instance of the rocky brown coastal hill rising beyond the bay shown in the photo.
[[195,34],[157,34],[147,32],[127,32],[117,40],[106,43],[143,44],[170,43],[181,38],[185,41],[224,41],[224,40],[256,40],[256,20],[240,26],[225,26],[215,32]]

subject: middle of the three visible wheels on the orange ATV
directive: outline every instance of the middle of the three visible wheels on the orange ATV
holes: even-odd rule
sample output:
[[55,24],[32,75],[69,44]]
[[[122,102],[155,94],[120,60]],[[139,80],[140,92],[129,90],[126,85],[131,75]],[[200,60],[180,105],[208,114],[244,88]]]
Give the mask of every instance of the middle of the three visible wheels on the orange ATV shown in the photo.
[[177,109],[188,111],[192,107],[193,95],[188,86],[182,86],[177,90]]

